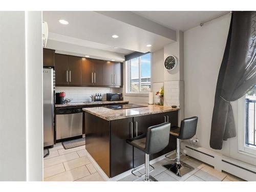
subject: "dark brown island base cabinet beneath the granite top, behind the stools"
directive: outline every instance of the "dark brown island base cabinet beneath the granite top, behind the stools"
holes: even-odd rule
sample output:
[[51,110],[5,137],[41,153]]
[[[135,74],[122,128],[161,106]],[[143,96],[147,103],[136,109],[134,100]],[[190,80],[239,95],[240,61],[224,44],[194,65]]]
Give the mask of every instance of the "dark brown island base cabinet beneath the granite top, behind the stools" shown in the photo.
[[[178,122],[177,111],[111,121],[87,112],[84,115],[86,149],[110,178],[145,163],[145,154],[128,144],[126,139],[146,133],[148,127],[165,122],[166,116],[170,122]],[[170,137],[168,146],[151,154],[151,159],[173,150],[176,150],[176,138]]]

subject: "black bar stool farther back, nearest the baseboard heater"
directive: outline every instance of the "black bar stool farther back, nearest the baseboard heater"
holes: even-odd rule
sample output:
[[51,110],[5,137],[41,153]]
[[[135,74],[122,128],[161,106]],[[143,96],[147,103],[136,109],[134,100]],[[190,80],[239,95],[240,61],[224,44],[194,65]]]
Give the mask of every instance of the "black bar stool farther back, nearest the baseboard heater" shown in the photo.
[[[176,162],[163,165],[165,168],[173,172],[177,176],[184,176],[191,172],[194,168],[180,161],[180,140],[191,139],[196,135],[198,117],[190,117],[181,121],[180,127],[170,131],[170,135],[177,138]],[[167,157],[168,154],[165,156]],[[169,157],[167,157],[169,158]],[[169,158],[171,159],[171,158]],[[175,160],[172,159],[172,160]]]

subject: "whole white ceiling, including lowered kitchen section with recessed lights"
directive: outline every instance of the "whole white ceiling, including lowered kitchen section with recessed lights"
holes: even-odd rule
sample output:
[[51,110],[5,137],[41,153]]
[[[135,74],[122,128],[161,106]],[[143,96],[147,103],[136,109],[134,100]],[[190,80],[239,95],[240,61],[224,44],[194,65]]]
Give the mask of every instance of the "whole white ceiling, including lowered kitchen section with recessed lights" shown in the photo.
[[[133,51],[154,52],[162,49],[176,40],[176,30],[186,31],[227,12],[44,11],[42,16],[48,23],[49,39],[56,43],[65,42],[125,55]],[[62,25],[59,19],[65,19],[69,24]],[[113,34],[119,38],[112,38]],[[146,47],[148,44],[152,47]]]

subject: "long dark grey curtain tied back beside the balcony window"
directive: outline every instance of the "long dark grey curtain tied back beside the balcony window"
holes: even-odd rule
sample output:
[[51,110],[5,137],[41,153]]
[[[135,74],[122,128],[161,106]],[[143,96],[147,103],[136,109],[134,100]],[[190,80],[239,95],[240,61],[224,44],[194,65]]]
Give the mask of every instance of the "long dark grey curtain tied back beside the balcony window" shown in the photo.
[[211,120],[210,147],[221,150],[223,140],[236,137],[230,101],[256,84],[256,11],[232,13],[221,63]]

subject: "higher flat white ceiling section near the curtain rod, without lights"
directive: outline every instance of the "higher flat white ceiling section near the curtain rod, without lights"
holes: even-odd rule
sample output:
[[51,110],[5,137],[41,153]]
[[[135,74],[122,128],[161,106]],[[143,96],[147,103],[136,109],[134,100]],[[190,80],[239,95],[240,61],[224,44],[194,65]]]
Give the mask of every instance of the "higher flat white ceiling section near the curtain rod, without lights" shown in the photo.
[[186,31],[201,22],[230,11],[134,11],[134,13],[174,30]]

